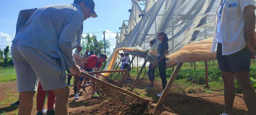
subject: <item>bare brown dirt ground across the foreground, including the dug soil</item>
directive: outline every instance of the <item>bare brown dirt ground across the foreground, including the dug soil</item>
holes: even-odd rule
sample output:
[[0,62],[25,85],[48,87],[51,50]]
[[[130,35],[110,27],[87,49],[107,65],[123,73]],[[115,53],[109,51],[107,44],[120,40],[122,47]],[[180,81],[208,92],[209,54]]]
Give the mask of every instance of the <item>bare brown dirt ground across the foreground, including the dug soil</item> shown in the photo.
[[[112,84],[117,84],[117,81],[108,81]],[[133,81],[132,81],[133,82]],[[129,89],[132,82],[122,82],[125,89]],[[73,87],[70,87],[69,96],[69,113],[71,115],[104,115],[104,114],[150,114],[159,97],[157,93],[161,92],[162,84],[160,81],[155,81],[154,88],[146,88],[147,79],[140,79],[134,88],[133,92],[151,99],[150,105],[146,112],[142,102],[129,96],[120,95],[113,92],[109,88],[97,85],[97,93],[99,98],[92,97],[91,87],[86,88],[86,93],[80,96],[79,100],[74,100]],[[5,111],[9,114],[17,114],[18,106],[10,107],[10,104],[18,99],[16,92],[16,82],[0,84],[0,113]],[[216,115],[224,111],[224,96],[221,93],[213,92],[199,94],[184,94],[172,93],[174,89],[185,87],[173,85],[164,101],[164,106],[159,107],[156,114],[169,115]],[[8,98],[12,98],[8,101]],[[35,103],[35,102],[34,102]],[[47,107],[45,105],[45,107]],[[35,104],[33,114],[36,114]],[[245,106],[243,95],[237,94],[234,101],[234,115],[246,115],[247,108]]]

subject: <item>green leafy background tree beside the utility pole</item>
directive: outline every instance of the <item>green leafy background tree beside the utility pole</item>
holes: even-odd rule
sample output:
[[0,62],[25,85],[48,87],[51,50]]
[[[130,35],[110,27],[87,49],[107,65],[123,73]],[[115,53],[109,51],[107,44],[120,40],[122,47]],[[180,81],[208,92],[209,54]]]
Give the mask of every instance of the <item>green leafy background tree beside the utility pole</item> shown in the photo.
[[[82,44],[83,50],[81,51],[81,54],[84,54],[86,49],[89,49],[90,51],[94,51],[94,55],[99,56],[100,53],[104,53],[104,40],[97,40],[96,35],[90,36],[89,34],[86,35],[86,37],[82,38]],[[110,55],[110,42],[106,40],[106,54]]]

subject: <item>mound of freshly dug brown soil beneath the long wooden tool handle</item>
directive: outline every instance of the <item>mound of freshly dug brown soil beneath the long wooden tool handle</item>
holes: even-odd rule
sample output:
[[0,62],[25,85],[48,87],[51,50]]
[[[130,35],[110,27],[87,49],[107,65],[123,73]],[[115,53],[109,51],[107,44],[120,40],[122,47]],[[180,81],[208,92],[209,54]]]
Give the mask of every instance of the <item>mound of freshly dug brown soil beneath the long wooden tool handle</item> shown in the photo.
[[93,108],[80,108],[72,111],[70,115],[140,115],[143,114],[146,105],[131,96],[122,95],[104,86],[97,86],[96,92],[100,97],[92,97],[100,101]]

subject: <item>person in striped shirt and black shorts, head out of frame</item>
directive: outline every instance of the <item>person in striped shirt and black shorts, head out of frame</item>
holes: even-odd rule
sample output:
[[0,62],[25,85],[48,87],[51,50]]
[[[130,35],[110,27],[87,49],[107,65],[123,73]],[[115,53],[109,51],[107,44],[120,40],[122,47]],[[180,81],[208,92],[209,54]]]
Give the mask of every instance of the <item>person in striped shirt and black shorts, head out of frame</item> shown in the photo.
[[252,46],[255,30],[254,0],[221,0],[215,14],[212,52],[216,57],[224,82],[225,109],[222,115],[232,115],[236,88],[241,86],[250,115],[256,113],[256,93],[249,71],[250,57],[256,54]]

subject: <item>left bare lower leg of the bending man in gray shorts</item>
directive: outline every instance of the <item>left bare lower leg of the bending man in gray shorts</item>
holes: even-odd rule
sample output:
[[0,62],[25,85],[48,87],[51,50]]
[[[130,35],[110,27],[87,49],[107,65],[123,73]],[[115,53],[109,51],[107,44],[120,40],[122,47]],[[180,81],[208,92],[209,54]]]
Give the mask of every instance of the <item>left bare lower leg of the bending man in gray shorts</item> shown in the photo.
[[20,109],[18,115],[31,115],[36,91],[20,92]]

